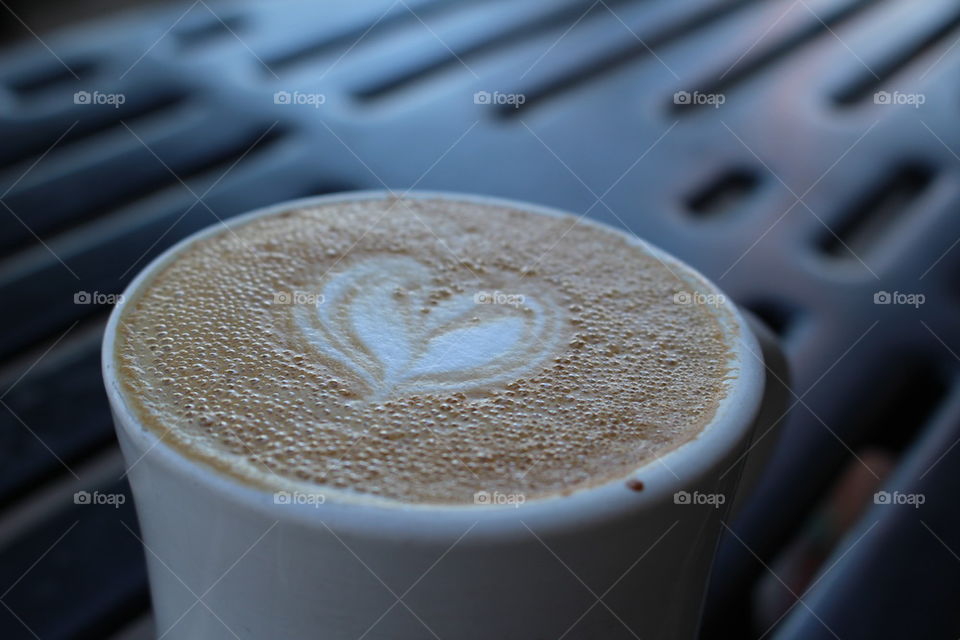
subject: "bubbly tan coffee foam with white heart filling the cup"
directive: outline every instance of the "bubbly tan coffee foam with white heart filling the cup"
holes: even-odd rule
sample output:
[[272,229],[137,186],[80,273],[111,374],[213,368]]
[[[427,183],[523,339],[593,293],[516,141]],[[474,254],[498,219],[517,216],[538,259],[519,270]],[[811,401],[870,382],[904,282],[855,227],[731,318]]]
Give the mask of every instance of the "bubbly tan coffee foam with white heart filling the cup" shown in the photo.
[[730,384],[696,276],[571,217],[436,199],[287,211],[160,268],[118,378],[164,441],[238,479],[404,503],[622,478]]

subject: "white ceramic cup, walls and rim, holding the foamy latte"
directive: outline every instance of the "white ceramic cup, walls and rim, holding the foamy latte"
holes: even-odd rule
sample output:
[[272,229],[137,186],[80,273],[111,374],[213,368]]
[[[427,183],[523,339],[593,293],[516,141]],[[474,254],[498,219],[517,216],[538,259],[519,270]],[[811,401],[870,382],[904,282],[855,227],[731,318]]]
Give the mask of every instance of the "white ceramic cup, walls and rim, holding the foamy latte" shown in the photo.
[[[356,192],[287,202],[229,224],[297,206],[387,195]],[[405,197],[569,215],[461,194]],[[765,391],[771,380],[784,378],[775,341],[767,335],[758,341],[731,303],[717,298],[732,311],[726,315],[736,344],[735,382],[714,420],[692,441],[626,478],[519,507],[390,506],[342,497],[278,504],[276,494],[241,484],[161,442],[135,417],[116,379],[114,336],[124,305],[186,246],[221,231],[220,225],[201,231],[154,260],[127,288],[103,342],[104,380],[129,468],[159,637],[696,636],[722,521],[735,508],[744,468],[756,475],[765,456],[760,450],[770,448],[772,434],[744,454],[755,433],[777,422],[783,404],[782,394]],[[676,258],[647,249],[692,290],[720,295]],[[775,361],[766,370],[764,358]]]

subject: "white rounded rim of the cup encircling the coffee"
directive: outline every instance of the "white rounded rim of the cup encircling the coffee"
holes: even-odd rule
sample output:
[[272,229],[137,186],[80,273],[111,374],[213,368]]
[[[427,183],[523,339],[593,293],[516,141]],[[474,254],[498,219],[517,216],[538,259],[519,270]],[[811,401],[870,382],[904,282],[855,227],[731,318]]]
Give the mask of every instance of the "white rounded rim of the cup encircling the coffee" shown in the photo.
[[[519,507],[408,504],[349,497],[344,499],[346,494],[343,492],[330,492],[334,499],[323,504],[277,504],[274,499],[277,490],[271,491],[247,484],[232,475],[217,471],[212,465],[189,457],[163,442],[160,436],[140,422],[127,403],[116,378],[114,342],[117,324],[126,304],[136,299],[139,289],[147,284],[159,269],[193,243],[221,233],[225,226],[236,228],[257,218],[290,209],[345,201],[389,199],[398,195],[413,200],[443,199],[502,206],[552,217],[574,217],[578,224],[593,225],[619,234],[631,244],[650,252],[671,270],[679,269],[680,273],[704,290],[721,295],[720,304],[727,313],[718,314],[718,317],[727,325],[724,329],[733,343],[732,362],[736,370],[733,372],[735,380],[731,382],[727,395],[718,404],[713,419],[694,438],[645,462],[625,476],[570,494],[531,500]],[[727,319],[724,320],[724,317]],[[299,198],[261,207],[205,227],[166,249],[137,274],[114,306],[104,333],[101,365],[118,436],[121,441],[126,439],[138,454],[138,459],[132,466],[137,466],[141,459],[147,456],[153,456],[153,462],[159,464],[164,471],[174,473],[195,486],[207,487],[237,507],[252,509],[277,521],[297,521],[308,526],[334,526],[341,531],[370,537],[396,538],[400,535],[448,539],[451,535],[462,535],[465,530],[470,530],[480,523],[484,526],[478,528],[477,534],[487,538],[515,533],[518,525],[537,531],[569,531],[588,526],[591,522],[622,517],[649,509],[662,501],[672,500],[675,492],[693,486],[720,461],[729,459],[737,447],[748,439],[763,398],[765,376],[763,363],[757,354],[760,354],[760,348],[746,319],[736,305],[726,296],[722,296],[719,287],[693,267],[628,231],[552,207],[507,198],[449,191],[410,191],[397,194],[388,190],[365,190]],[[130,467],[128,460],[128,471]],[[640,480],[643,489],[638,491],[628,487],[627,483],[631,479]],[[312,487],[315,493],[324,491],[323,487],[317,485],[304,486]]]

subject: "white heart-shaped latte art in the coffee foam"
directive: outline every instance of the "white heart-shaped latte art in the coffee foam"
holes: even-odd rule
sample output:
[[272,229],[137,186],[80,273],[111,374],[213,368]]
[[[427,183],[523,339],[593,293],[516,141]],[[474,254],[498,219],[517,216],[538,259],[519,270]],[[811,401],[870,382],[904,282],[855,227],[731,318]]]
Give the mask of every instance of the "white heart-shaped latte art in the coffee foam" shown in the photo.
[[562,310],[546,297],[454,292],[409,257],[354,263],[321,293],[294,307],[296,324],[374,401],[508,382],[541,367],[561,340]]

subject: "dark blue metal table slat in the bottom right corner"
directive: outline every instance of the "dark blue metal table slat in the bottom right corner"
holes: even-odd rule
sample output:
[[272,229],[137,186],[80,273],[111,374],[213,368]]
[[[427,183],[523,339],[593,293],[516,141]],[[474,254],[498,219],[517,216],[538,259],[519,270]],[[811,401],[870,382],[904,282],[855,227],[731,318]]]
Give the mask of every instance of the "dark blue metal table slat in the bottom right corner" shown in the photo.
[[953,447],[960,440],[960,394],[952,396],[883,487],[923,496],[924,503],[874,505],[826,562],[813,592],[804,595],[806,606],[795,607],[775,638],[960,634],[960,451]]

